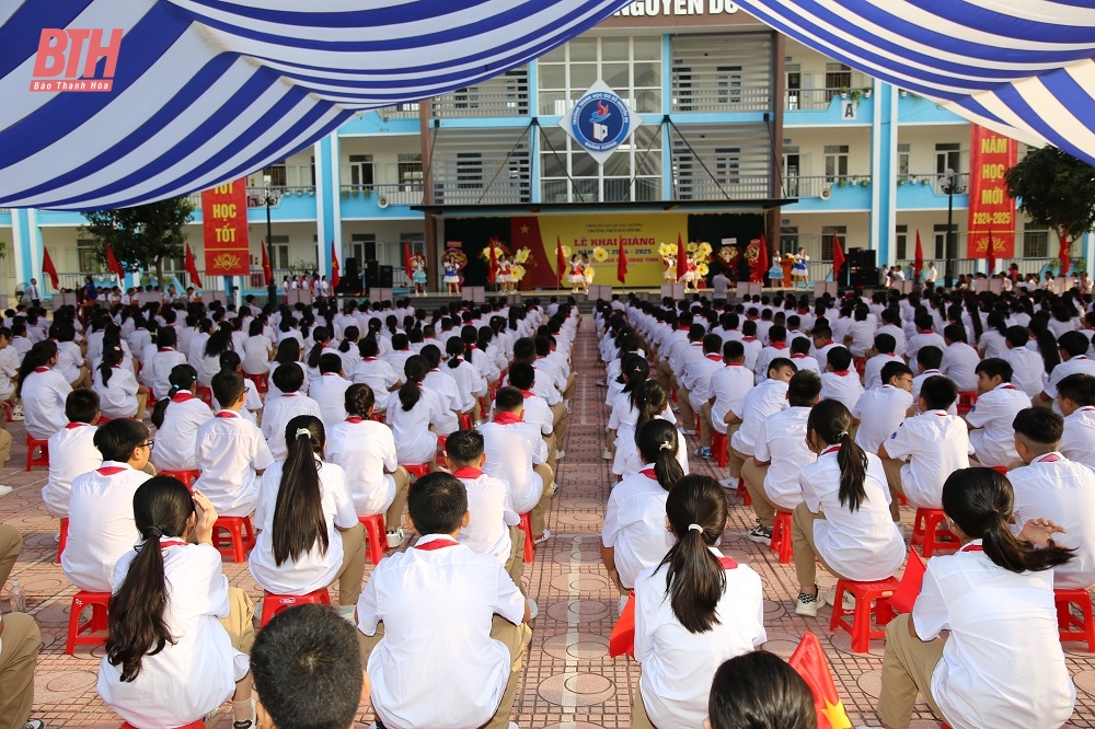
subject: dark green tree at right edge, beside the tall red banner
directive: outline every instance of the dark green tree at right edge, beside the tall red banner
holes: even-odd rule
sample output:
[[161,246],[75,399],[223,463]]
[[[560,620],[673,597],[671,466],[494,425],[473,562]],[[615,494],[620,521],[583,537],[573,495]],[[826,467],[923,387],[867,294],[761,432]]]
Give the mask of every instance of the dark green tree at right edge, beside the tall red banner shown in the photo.
[[1004,183],[1031,221],[1057,232],[1070,258],[1072,241],[1095,228],[1095,166],[1056,147],[1031,150]]

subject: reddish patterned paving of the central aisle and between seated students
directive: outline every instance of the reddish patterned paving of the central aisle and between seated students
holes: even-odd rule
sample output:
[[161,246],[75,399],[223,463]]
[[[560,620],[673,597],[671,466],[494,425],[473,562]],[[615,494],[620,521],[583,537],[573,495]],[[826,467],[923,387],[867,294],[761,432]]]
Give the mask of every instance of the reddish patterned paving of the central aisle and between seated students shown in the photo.
[[[586,322],[578,339],[579,383],[574,405],[566,459],[560,463],[561,491],[555,498],[550,529],[555,535],[537,552],[535,564],[526,567],[530,594],[540,605],[534,623],[535,635],[526,660],[521,690],[514,719],[522,729],[590,729],[627,727],[631,702],[638,680],[638,666],[626,658],[608,657],[608,635],[615,620],[616,595],[600,565],[598,539],[609,493],[608,462],[600,458],[603,426],[608,412],[601,404],[603,390],[595,386],[600,372],[596,368],[595,337]],[[3,483],[15,491],[0,497],[0,521],[14,523],[22,531],[25,548],[12,577],[22,580],[28,595],[28,610],[42,627],[45,646],[38,659],[33,716],[50,727],[117,727],[120,720],[95,695],[95,675],[102,649],[79,649],[76,656],[64,655],[69,603],[74,589],[60,567],[54,564],[57,521],[43,509],[39,489],[45,472],[30,474],[13,471],[23,463],[25,449],[21,424],[9,426],[16,447],[5,467]],[[694,443],[690,439],[690,445]],[[693,461],[693,471],[717,473],[714,464]],[[751,510],[731,498],[730,526],[723,537],[723,551],[753,567],[764,580],[765,614],[771,650],[784,658],[791,655],[805,629],[822,640],[832,664],[837,687],[853,724],[877,726],[874,711],[881,669],[880,641],[869,655],[850,650],[846,633],[830,634],[830,609],[816,618],[798,617],[793,612],[796,580],[791,565],[780,565],[766,547],[749,542],[745,532],[754,522]],[[911,521],[912,512],[903,514]],[[224,565],[233,585],[247,590],[256,604],[262,591],[243,565]],[[834,580],[819,572],[822,585]],[[7,597],[7,594],[4,595]],[[7,601],[4,612],[7,612]],[[1076,711],[1069,726],[1095,727],[1095,659],[1079,644],[1065,650],[1079,688]],[[921,705],[918,729],[937,727]],[[367,725],[372,715],[361,707],[360,721]],[[229,727],[227,719],[221,727]]]

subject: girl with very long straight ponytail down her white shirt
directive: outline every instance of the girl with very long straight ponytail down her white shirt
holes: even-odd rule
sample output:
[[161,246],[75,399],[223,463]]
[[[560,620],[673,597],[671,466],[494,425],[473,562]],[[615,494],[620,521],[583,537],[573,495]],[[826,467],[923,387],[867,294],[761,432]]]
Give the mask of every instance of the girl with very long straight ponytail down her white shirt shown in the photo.
[[289,455],[263,474],[251,575],[266,592],[308,594],[338,580],[339,613],[350,614],[365,577],[365,528],[342,466],[323,460],[323,420],[298,415],[285,427]]

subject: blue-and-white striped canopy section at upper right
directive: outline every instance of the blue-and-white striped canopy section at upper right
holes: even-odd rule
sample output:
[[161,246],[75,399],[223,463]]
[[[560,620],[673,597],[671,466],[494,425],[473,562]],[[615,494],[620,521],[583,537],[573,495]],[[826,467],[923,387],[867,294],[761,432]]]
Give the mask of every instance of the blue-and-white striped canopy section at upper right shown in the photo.
[[1091,0],[737,0],[786,35],[989,129],[1095,163]]

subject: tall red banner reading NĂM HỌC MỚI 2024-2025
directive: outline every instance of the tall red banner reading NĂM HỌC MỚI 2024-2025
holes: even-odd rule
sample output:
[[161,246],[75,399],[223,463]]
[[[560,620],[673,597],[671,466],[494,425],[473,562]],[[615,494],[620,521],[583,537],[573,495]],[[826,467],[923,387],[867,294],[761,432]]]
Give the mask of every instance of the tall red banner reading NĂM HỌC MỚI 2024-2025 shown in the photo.
[[969,236],[966,255],[989,257],[989,233],[995,258],[1015,255],[1015,198],[1007,194],[1004,172],[1015,166],[1018,142],[976,124],[969,132]]

